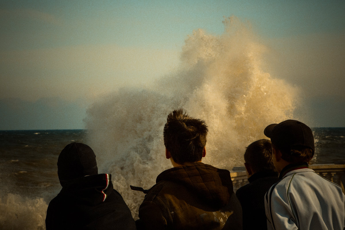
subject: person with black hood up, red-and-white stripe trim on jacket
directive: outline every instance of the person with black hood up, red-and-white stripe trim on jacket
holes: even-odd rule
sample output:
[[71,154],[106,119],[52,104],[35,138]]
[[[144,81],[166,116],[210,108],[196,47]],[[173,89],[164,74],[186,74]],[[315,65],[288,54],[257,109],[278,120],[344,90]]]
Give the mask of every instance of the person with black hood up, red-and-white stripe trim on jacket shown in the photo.
[[98,174],[86,144],[70,143],[58,158],[62,189],[47,209],[46,229],[136,229],[131,212],[113,189],[111,174]]

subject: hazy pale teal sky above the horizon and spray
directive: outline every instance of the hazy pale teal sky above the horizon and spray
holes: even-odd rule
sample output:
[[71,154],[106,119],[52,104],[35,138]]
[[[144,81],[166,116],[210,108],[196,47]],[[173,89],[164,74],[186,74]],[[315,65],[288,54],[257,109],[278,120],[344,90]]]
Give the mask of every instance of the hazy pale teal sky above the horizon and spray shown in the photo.
[[267,71],[307,92],[313,125],[344,127],[344,12],[344,1],[1,1],[0,129],[83,128],[95,99],[164,76],[193,30],[219,35],[232,15],[274,50]]

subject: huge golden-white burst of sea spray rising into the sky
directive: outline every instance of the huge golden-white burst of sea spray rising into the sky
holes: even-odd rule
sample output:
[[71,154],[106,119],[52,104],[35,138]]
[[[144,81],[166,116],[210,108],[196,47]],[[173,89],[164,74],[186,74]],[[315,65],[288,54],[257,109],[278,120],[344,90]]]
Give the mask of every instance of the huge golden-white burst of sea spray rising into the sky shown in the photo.
[[183,108],[209,127],[204,163],[232,169],[243,165],[249,143],[265,138],[267,124],[293,118],[298,89],[262,69],[265,46],[248,23],[224,20],[220,36],[196,30],[186,39],[180,68],[150,88],[123,88],[99,99],[85,119],[87,143],[99,169],[111,173],[134,217],[145,189],[171,167],[163,127],[169,112]]

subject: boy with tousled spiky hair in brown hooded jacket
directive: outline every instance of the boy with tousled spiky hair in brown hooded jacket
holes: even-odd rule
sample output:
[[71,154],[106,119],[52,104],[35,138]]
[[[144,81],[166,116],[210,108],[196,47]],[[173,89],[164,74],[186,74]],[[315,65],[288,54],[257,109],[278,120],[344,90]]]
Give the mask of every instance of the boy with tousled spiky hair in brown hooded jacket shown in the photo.
[[205,121],[181,109],[168,115],[165,154],[174,167],[143,190],[147,194],[139,207],[138,229],[242,229],[242,209],[230,172],[201,162],[207,132]]

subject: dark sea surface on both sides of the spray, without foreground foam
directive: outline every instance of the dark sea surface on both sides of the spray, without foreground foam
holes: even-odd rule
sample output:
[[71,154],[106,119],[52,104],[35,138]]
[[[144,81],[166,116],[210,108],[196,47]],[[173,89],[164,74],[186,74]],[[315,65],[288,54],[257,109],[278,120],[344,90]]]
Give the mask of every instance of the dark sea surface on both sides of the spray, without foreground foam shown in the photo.
[[[345,128],[313,128],[314,164],[345,164]],[[2,193],[42,197],[60,189],[57,159],[70,142],[82,142],[86,130],[0,131]],[[50,199],[50,196],[45,196]]]

